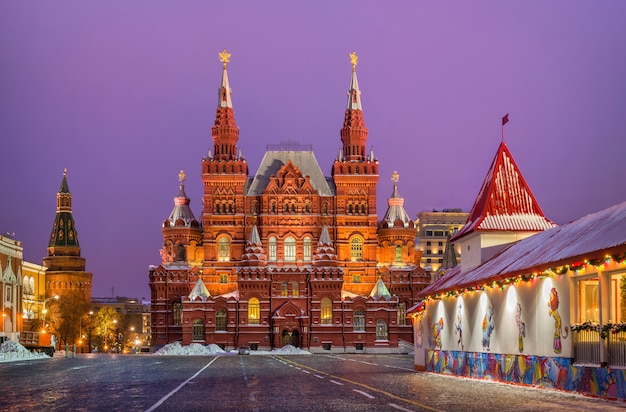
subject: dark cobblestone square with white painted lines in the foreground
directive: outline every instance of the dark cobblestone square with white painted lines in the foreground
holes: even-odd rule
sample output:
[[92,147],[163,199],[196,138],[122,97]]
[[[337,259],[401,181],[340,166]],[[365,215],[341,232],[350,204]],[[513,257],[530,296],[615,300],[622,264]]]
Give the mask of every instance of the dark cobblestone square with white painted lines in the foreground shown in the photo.
[[617,411],[626,403],[413,371],[409,355],[93,355],[0,365],[0,411]]

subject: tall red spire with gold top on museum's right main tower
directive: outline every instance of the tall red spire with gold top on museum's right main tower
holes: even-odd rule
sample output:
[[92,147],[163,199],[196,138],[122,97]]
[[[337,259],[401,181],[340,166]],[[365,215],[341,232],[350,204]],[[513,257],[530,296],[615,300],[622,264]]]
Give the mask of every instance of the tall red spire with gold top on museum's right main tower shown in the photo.
[[343,143],[343,157],[346,161],[365,161],[367,158],[367,127],[363,120],[361,106],[361,90],[356,77],[356,63],[358,56],[355,52],[350,54],[352,63],[352,77],[348,90],[348,104],[341,129],[341,142]]

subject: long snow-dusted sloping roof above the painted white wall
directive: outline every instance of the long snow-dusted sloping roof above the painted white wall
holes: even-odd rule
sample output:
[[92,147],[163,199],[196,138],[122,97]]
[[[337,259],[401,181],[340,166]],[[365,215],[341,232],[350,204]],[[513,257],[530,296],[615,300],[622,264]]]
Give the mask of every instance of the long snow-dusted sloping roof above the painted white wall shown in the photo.
[[424,288],[419,296],[462,290],[512,276],[626,253],[626,202],[539,232],[511,244],[477,268],[461,266]]

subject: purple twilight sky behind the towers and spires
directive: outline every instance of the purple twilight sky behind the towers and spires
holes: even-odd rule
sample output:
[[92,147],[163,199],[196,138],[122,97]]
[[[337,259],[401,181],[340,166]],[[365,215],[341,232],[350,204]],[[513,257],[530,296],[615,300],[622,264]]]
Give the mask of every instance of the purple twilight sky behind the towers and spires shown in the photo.
[[224,48],[251,174],[291,140],[330,175],[356,51],[380,218],[394,170],[411,217],[469,211],[508,112],[567,223],[626,200],[625,21],[624,1],[2,1],[0,233],[41,264],[67,168],[93,296],[149,297],[180,169],[200,218]]

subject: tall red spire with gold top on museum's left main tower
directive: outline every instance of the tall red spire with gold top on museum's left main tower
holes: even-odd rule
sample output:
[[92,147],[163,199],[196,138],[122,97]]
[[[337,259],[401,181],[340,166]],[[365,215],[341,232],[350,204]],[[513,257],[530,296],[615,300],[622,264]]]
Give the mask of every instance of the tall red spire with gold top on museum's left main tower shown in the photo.
[[235,160],[239,128],[235,122],[235,112],[233,111],[231,100],[232,91],[228,83],[228,73],[226,71],[226,64],[230,62],[230,53],[224,50],[218,53],[218,55],[224,65],[224,69],[222,71],[222,83],[218,89],[215,124],[211,127],[213,153],[215,160]]

